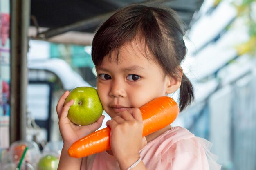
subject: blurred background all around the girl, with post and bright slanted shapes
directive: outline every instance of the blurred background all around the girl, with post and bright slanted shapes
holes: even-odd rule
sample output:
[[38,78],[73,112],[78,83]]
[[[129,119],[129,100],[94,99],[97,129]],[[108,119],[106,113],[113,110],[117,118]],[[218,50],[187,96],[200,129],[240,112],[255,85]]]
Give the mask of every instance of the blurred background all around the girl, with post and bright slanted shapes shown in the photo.
[[96,86],[94,32],[132,3],[170,7],[186,25],[195,101],[172,125],[211,141],[222,170],[256,170],[256,0],[0,0],[1,170],[22,158],[23,168],[56,169],[58,99]]

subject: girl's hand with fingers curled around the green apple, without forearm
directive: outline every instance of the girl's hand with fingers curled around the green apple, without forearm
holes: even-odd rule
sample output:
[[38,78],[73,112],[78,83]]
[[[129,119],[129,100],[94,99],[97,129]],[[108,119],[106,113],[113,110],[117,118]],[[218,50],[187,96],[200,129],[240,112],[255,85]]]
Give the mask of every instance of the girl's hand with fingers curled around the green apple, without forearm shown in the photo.
[[69,91],[66,91],[58,101],[56,111],[58,113],[59,128],[61,136],[63,138],[63,143],[65,146],[69,147],[78,139],[94,132],[101,127],[104,116],[101,116],[99,120],[88,126],[79,126],[70,121],[67,117],[68,110],[70,106],[74,103],[73,100],[67,102],[65,105],[65,99],[67,98]]

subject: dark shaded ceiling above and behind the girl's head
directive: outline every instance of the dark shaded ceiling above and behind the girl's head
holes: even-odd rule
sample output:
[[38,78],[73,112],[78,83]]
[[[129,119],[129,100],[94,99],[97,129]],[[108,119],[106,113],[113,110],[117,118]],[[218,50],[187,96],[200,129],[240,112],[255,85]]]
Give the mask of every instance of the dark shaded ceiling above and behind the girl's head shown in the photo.
[[[31,27],[34,39],[78,43],[81,36],[90,44],[97,26],[113,11],[132,3],[165,5],[177,11],[189,29],[193,14],[204,0],[31,0]],[[194,18],[193,18],[194,19]],[[35,29],[37,28],[37,29]],[[45,29],[39,29],[45,28]],[[43,30],[43,31],[42,31]],[[32,31],[33,32],[33,31]],[[65,36],[64,36],[65,35]],[[75,38],[76,37],[76,38]],[[70,40],[68,40],[70,39]],[[83,41],[83,40],[82,40]]]

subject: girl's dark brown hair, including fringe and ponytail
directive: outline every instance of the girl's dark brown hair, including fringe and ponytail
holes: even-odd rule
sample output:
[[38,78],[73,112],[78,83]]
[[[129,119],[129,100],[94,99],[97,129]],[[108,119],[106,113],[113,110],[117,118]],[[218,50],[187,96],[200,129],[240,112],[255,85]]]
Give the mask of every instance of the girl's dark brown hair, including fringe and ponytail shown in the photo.
[[[97,30],[92,41],[92,60],[96,66],[103,58],[133,40],[144,42],[164,74],[179,79],[180,63],[186,55],[182,21],[172,9],[130,5],[116,11]],[[147,53],[146,53],[147,54]],[[111,56],[111,55],[110,55]],[[183,74],[180,110],[193,100],[193,86]]]

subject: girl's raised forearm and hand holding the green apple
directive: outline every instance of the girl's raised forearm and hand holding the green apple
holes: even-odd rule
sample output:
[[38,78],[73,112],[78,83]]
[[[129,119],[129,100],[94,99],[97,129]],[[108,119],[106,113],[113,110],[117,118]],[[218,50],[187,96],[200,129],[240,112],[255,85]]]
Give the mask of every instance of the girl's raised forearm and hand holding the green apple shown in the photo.
[[67,153],[67,149],[78,139],[81,139],[82,137],[100,128],[104,116],[101,116],[97,122],[88,126],[75,125],[67,117],[68,110],[74,101],[69,101],[64,105],[68,94],[69,91],[66,91],[61,96],[56,107],[59,118],[59,129],[64,143],[61,151],[58,170],[80,170],[82,159],[70,157]]

